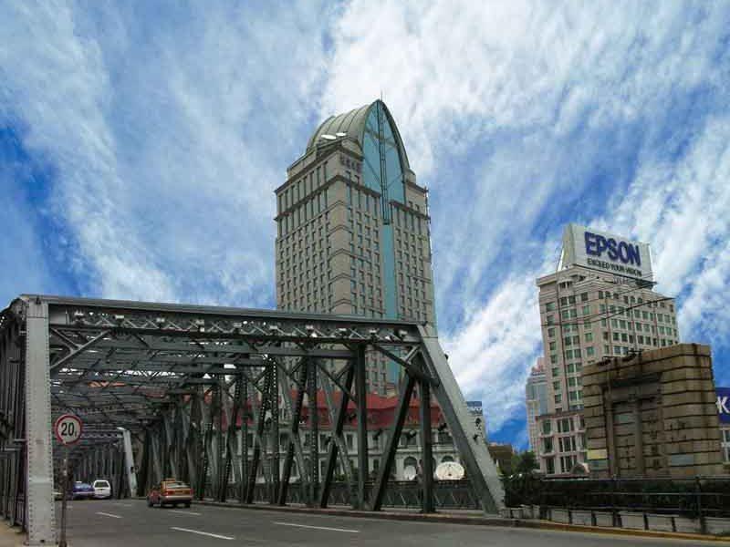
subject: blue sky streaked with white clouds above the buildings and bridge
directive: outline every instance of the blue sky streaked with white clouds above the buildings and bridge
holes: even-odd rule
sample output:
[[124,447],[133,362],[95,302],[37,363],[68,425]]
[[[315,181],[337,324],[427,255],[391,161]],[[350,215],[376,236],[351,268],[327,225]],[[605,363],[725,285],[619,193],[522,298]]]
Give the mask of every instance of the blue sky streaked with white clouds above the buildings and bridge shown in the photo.
[[274,307],[274,189],[382,97],[430,191],[442,345],[525,448],[568,222],[651,243],[730,385],[729,88],[727,2],[3,0],[0,307]]

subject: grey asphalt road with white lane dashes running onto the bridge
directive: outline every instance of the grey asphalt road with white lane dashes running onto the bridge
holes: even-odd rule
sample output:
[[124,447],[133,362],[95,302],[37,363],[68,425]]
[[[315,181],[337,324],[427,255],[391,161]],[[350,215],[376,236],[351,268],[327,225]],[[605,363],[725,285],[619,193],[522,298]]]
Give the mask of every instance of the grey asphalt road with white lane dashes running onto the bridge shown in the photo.
[[[145,501],[138,500],[72,501],[68,508],[69,547],[650,547],[697,544],[609,534],[382,521],[195,504],[190,509],[160,509],[148,508]],[[59,518],[60,511],[57,515]]]

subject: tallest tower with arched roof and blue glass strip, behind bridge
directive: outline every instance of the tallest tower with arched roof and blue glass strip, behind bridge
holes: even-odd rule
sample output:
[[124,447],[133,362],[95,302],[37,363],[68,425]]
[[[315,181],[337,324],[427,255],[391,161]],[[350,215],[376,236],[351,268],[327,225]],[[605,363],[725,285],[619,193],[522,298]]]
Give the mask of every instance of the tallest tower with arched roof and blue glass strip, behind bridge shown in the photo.
[[[276,189],[276,306],[435,324],[429,222],[385,104],[326,119]],[[368,364],[384,394],[396,367]]]

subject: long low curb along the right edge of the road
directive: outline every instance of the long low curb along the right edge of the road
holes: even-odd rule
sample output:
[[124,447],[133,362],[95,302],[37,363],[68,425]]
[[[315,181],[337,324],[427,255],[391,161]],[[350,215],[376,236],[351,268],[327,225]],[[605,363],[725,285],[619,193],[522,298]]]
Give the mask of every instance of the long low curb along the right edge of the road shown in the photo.
[[501,517],[472,517],[446,513],[422,514],[417,512],[394,511],[357,511],[352,509],[313,509],[309,507],[291,507],[267,504],[222,503],[220,501],[193,501],[197,505],[239,509],[249,511],[279,511],[294,514],[315,514],[335,517],[352,517],[358,519],[379,519],[382,521],[416,521],[442,522],[448,524],[468,524],[473,526],[498,526],[502,528],[525,528],[529,530],[553,530],[558,532],[600,533],[641,538],[659,538],[672,540],[692,540],[695,542],[719,542],[730,544],[730,537],[702,535],[697,533],[659,532],[652,530],[630,530],[625,528],[603,528],[600,526],[581,526],[579,524],[563,524],[551,521],[532,521],[522,519],[504,519]]

